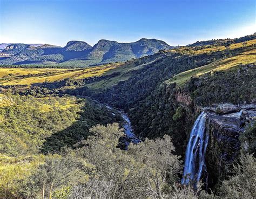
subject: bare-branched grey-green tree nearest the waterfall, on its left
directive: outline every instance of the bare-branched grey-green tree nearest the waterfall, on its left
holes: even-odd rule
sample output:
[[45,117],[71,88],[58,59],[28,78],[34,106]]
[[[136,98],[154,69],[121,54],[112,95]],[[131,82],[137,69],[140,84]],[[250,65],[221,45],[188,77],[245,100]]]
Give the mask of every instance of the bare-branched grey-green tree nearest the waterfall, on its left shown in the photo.
[[179,156],[172,154],[174,151],[169,135],[164,135],[164,139],[146,139],[145,142],[130,146],[129,154],[134,155],[136,161],[145,162],[148,168],[145,173],[146,191],[151,197],[163,198],[178,179],[181,165]]

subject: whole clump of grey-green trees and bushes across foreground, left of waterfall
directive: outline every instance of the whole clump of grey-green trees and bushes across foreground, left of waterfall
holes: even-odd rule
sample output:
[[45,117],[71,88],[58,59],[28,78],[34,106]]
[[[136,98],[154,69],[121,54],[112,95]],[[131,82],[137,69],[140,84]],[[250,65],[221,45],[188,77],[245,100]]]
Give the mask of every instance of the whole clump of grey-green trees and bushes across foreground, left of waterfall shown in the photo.
[[4,186],[1,193],[24,198],[161,198],[174,190],[181,167],[179,157],[172,154],[170,136],[131,145],[126,152],[117,147],[124,134],[118,123],[90,131],[94,136],[84,140],[82,148],[38,156],[39,164],[30,160],[29,172],[12,181],[12,195]]

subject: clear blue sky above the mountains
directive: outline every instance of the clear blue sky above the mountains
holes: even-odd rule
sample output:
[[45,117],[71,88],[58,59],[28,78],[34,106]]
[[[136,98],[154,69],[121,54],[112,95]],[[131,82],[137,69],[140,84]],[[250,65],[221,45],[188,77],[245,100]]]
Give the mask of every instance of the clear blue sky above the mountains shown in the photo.
[[156,38],[170,45],[256,32],[256,0],[0,0],[0,43]]

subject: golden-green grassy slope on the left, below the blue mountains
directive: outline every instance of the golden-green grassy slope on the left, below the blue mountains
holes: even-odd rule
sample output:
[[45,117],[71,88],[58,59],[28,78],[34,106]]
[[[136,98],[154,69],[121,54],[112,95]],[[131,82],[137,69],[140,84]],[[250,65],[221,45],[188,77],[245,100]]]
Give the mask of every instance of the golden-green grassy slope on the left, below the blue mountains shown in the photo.
[[[152,61],[151,58],[143,58]],[[146,61],[147,62],[147,61]],[[104,79],[96,83],[88,84],[90,88],[110,87],[130,78],[130,72],[144,67],[145,64],[136,65],[133,62],[126,64],[106,64],[89,68],[64,69],[64,68],[0,68],[0,78],[12,74],[12,78],[0,79],[0,85],[32,85],[36,83],[54,82],[65,78],[84,79],[95,76],[110,76],[118,73],[118,76]],[[45,74],[47,73],[47,74]],[[28,74],[38,74],[37,77],[22,77]],[[42,74],[42,76],[40,75]]]

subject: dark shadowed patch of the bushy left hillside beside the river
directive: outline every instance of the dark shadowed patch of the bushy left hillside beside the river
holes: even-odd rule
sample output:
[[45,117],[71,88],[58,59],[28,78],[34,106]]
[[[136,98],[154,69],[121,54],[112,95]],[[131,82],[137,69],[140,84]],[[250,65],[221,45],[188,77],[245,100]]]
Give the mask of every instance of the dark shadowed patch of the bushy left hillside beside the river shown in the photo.
[[118,113],[112,114],[112,111],[106,107],[87,101],[80,112],[80,118],[70,127],[46,138],[41,151],[42,153],[55,153],[63,147],[76,148],[75,145],[78,142],[91,134],[89,131],[91,127],[120,121],[122,117]]

